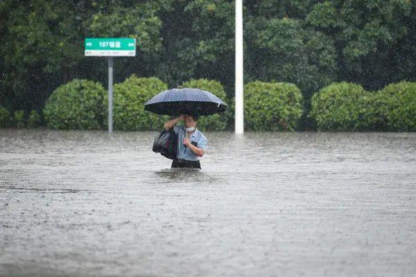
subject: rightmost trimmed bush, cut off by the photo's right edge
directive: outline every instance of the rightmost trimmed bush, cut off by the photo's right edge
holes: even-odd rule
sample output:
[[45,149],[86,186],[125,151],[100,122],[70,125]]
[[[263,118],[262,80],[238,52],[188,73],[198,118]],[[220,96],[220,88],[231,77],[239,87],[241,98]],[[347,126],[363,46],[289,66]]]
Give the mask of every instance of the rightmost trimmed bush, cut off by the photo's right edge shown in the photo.
[[381,91],[385,104],[384,117],[389,131],[416,131],[416,83],[399,82],[388,84]]

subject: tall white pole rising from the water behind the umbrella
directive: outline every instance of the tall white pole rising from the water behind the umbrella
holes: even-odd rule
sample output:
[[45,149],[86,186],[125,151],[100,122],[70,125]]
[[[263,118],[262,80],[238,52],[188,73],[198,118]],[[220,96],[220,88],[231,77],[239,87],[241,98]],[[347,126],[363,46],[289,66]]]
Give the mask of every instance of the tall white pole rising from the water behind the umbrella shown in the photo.
[[236,0],[236,112],[235,133],[244,133],[243,0]]

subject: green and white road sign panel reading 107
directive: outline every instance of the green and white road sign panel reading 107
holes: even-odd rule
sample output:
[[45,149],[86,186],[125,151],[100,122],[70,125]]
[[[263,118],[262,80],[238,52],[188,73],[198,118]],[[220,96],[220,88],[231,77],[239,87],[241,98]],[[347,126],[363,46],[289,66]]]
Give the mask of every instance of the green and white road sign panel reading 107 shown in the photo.
[[86,56],[135,56],[136,39],[130,38],[86,38],[85,39]]

